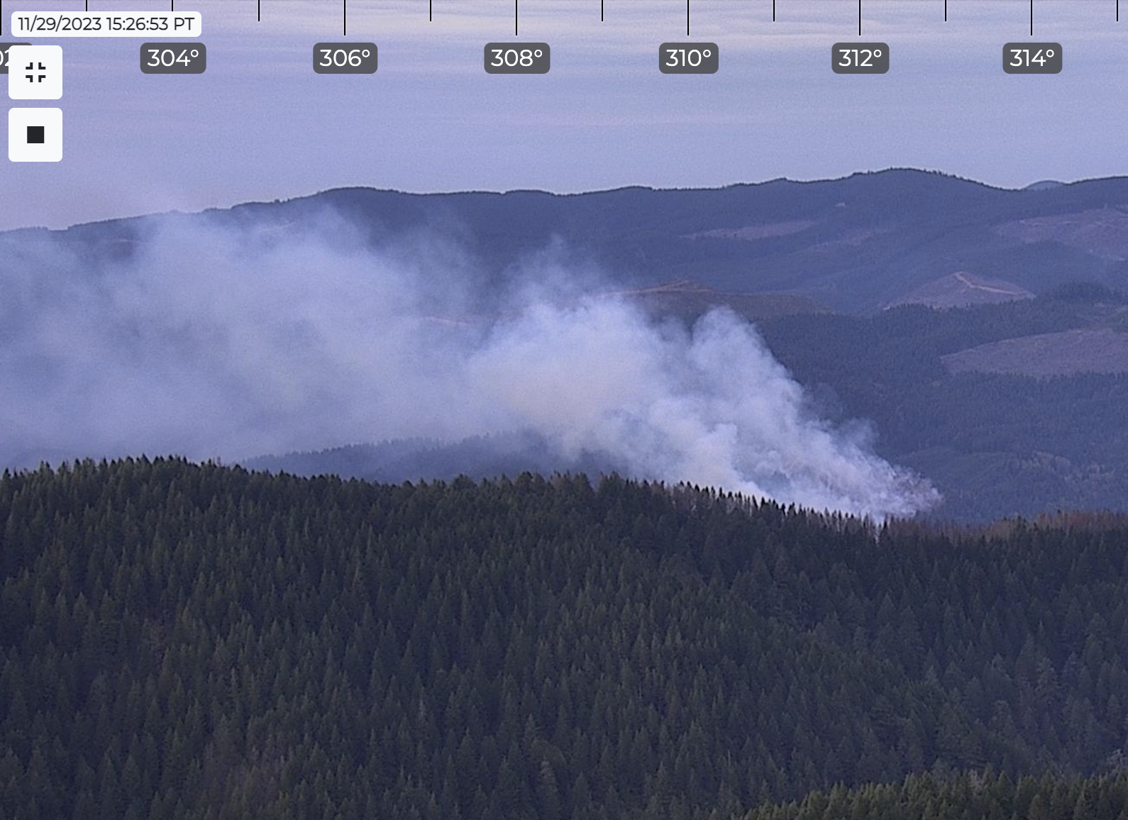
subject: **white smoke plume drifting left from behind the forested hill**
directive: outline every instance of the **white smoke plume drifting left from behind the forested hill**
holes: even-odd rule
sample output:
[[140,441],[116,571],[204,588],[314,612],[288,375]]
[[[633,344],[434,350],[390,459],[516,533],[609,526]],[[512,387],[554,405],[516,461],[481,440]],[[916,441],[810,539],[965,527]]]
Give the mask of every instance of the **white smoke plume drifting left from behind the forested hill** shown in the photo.
[[601,453],[638,477],[874,517],[938,497],[812,417],[746,321],[658,323],[576,292],[590,274],[552,254],[486,312],[456,247],[416,237],[373,252],[336,219],[155,220],[116,263],[61,245],[0,245],[6,464],[532,431],[561,468]]

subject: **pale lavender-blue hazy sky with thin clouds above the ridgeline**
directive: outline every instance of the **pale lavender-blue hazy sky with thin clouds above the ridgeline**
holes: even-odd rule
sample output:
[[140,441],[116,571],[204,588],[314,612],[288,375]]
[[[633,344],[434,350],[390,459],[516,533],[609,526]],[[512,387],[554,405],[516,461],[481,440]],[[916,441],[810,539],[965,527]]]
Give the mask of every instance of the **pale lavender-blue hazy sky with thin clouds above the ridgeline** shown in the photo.
[[[167,0],[89,0],[91,10]],[[380,49],[374,76],[311,69],[340,41],[341,0],[177,0],[203,15],[208,71],[139,70],[141,38],[63,46],[64,159],[2,165],[0,228],[246,200],[342,185],[408,191],[706,186],[917,166],[1021,186],[1128,171],[1128,0],[1034,0],[1034,41],[1065,71],[1015,77],[1002,45],[1029,41],[1028,0],[864,0],[863,41],[890,44],[885,76],[830,71],[857,41],[854,0],[691,0],[713,76],[659,73],[686,39],[684,0],[521,0],[520,41],[552,45],[546,76],[483,71],[514,39],[512,0],[349,0],[349,37]],[[5,0],[80,11],[83,0]],[[16,105],[16,104],[12,104]],[[20,104],[34,105],[34,104]]]

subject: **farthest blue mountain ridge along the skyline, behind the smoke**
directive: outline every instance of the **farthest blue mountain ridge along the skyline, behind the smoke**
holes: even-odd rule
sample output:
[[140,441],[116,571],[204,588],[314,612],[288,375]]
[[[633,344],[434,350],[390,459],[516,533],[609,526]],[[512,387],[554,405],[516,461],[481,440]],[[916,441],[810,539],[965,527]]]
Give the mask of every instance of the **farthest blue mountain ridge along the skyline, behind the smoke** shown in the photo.
[[[457,237],[492,272],[493,284],[506,267],[554,243],[631,286],[694,280],[717,291],[805,297],[847,312],[897,303],[957,272],[1031,293],[1076,280],[1110,286],[1128,280],[1128,263],[1109,250],[1128,241],[1128,231],[1120,236],[1121,220],[1128,224],[1125,177],[1023,191],[910,169],[564,195],[337,188],[165,219],[287,230],[323,209],[353,221],[377,246],[420,231]],[[120,257],[143,241],[152,219],[38,233]],[[1102,227],[1110,220],[1111,228]],[[1006,228],[1017,224],[1032,227]],[[0,233],[0,258],[16,235],[28,231]],[[1093,237],[1096,246],[1086,246]]]

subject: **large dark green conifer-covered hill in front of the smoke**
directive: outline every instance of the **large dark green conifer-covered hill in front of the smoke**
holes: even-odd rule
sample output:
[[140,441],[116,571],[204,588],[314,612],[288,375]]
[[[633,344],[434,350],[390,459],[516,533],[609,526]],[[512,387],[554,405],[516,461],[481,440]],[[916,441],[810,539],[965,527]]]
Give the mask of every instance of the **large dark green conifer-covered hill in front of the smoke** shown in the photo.
[[5,474],[0,815],[734,817],[1111,770],[1126,558],[1118,519],[874,530],[614,477]]

